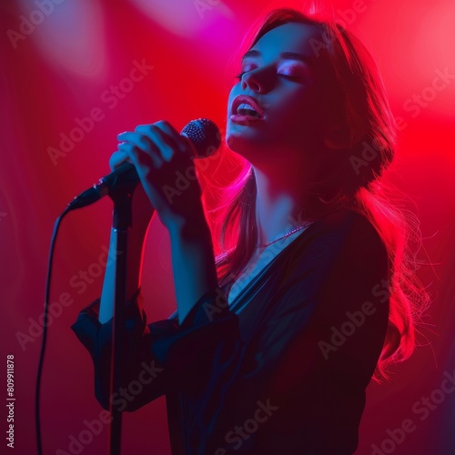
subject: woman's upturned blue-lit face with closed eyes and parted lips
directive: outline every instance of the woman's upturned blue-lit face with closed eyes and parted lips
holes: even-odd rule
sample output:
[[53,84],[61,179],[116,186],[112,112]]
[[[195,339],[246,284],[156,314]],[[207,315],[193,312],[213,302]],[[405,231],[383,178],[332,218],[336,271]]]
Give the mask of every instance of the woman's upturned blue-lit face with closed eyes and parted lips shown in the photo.
[[320,43],[317,28],[288,23],[263,35],[243,56],[241,79],[227,102],[226,138],[253,165],[277,157],[295,162],[320,146],[320,93],[328,83],[326,57],[313,51]]

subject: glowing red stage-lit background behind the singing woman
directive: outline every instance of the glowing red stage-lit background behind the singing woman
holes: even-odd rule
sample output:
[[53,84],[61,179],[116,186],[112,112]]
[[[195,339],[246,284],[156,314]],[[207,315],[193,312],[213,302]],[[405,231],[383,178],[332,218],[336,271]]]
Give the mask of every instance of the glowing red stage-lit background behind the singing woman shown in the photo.
[[[450,0],[319,3],[372,49],[393,112],[402,117],[394,181],[410,195],[412,209],[420,217],[424,264],[419,276],[433,299],[422,346],[393,369],[390,382],[369,386],[357,453],[372,453],[373,444],[384,453],[454,453],[455,393],[441,396],[435,390],[444,373],[455,375],[455,76],[447,76],[438,91],[431,86],[438,71],[455,75],[455,4]],[[2,359],[15,355],[15,453],[31,454],[35,453],[35,376],[42,337],[35,333],[22,343],[18,337],[28,335],[43,313],[47,252],[56,217],[72,197],[108,172],[116,134],[159,119],[180,129],[199,116],[212,118],[223,130],[227,93],[238,70],[235,54],[249,25],[266,8],[300,7],[303,2],[64,0],[54,5],[15,0],[7,4],[0,6]],[[36,13],[38,5],[47,5],[46,14]],[[27,19],[37,24],[26,29]],[[27,32],[22,37],[14,34],[22,33],[21,26]],[[143,60],[153,66],[143,80],[123,81],[134,61]],[[120,95],[107,102],[106,91],[119,85]],[[419,106],[415,96],[424,96],[425,106]],[[103,118],[93,122],[66,156],[53,161],[49,147],[59,148],[60,135],[70,135],[76,118],[90,116],[96,107]],[[211,162],[202,185],[205,179],[224,182],[221,173],[232,177],[229,165],[232,169],[226,157]],[[215,173],[217,167],[221,172]],[[69,437],[77,438],[86,429],[84,420],[98,419],[101,411],[93,394],[91,361],[69,326],[78,311],[99,295],[102,277],[94,278],[80,293],[71,278],[79,270],[99,271],[94,264],[107,246],[110,221],[111,203],[105,198],[68,216],[57,241],[51,302],[67,292],[74,303],[63,308],[48,332],[42,385],[45,453],[58,449],[71,453]],[[146,254],[147,316],[150,321],[164,319],[175,308],[175,296],[167,232],[157,219],[149,231]],[[3,397],[5,373],[0,376]],[[412,410],[422,397],[438,401],[431,401],[434,409],[424,420],[423,414]],[[169,453],[165,404],[161,398],[125,414],[125,453]],[[388,430],[407,419],[415,430],[402,442],[388,443]],[[5,420],[6,414],[0,415],[4,435]],[[104,426],[81,453],[106,453],[106,438]]]

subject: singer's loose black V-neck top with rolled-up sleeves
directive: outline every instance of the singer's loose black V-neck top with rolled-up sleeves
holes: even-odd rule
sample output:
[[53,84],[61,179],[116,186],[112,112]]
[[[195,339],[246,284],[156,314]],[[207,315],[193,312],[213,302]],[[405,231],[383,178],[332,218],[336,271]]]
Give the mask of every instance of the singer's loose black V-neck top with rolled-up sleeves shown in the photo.
[[[132,411],[166,394],[173,455],[351,454],[388,325],[388,287],[377,230],[339,209],[273,258],[232,308],[216,288],[182,326],[177,313],[147,325],[140,298],[128,302],[128,393],[113,404]],[[112,319],[100,324],[98,309],[99,299],[71,329],[108,409]]]

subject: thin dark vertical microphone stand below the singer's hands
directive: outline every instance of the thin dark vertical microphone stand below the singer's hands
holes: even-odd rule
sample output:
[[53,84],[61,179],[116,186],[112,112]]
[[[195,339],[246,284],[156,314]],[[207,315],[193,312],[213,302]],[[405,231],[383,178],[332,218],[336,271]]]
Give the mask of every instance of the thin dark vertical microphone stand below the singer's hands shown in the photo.
[[[128,233],[131,228],[132,213],[131,201],[135,184],[130,184],[128,190],[110,195],[114,201],[114,215],[112,227],[116,232],[116,278],[115,278],[115,307],[112,323],[112,352],[110,364],[109,398],[118,392],[123,384],[123,359],[125,359],[125,304],[126,304],[126,261],[128,247]],[[131,189],[131,190],[129,190]],[[121,254],[119,254],[121,253]],[[122,412],[114,408],[112,399],[109,399],[109,453],[120,455]]]

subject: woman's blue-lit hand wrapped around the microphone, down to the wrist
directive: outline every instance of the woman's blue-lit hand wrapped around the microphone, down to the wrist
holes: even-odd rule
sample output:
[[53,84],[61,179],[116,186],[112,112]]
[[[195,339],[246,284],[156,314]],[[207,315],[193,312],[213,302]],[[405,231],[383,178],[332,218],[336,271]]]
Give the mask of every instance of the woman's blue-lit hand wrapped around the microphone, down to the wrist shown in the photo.
[[[201,189],[187,139],[166,121],[136,126],[134,132],[117,137],[121,142],[118,155],[111,157],[111,167],[121,157],[127,157],[135,165],[142,187],[163,225],[170,229],[200,221],[204,216]],[[143,199],[141,188],[137,187],[136,191],[139,191],[138,201]]]

